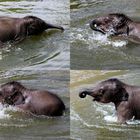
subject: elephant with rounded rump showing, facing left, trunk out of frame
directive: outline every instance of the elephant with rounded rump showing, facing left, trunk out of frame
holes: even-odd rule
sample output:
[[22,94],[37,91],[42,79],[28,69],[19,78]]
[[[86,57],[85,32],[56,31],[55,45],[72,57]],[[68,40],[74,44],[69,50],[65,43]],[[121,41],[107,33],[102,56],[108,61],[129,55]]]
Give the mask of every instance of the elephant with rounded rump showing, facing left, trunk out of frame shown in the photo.
[[61,116],[65,110],[64,103],[55,94],[27,89],[15,81],[0,86],[0,102],[36,115]]

